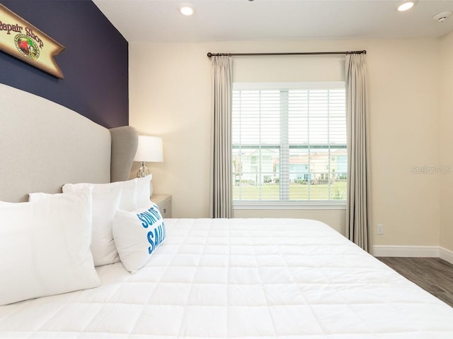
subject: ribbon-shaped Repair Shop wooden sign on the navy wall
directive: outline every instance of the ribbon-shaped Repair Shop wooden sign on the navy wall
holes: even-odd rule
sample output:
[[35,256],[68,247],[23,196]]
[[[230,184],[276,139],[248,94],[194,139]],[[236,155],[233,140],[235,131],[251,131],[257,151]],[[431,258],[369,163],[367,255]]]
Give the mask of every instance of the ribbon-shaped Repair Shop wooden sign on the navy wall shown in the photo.
[[47,73],[64,78],[54,57],[64,47],[0,4],[0,49]]

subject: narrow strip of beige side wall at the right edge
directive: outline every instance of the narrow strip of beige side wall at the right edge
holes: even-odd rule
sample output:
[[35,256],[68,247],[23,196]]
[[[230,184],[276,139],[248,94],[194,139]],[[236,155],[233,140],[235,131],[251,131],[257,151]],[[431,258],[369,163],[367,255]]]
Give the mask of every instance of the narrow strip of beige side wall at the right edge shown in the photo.
[[[453,33],[443,37],[440,63],[440,159],[453,170]],[[440,246],[453,251],[453,174],[442,175]]]

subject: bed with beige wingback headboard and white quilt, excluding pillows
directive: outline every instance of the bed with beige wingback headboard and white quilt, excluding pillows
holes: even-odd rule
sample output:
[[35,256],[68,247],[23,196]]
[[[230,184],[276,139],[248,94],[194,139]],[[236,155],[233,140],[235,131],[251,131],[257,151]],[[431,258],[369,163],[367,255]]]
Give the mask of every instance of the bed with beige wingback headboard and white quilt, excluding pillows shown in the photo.
[[[66,184],[130,185],[137,148],[130,127],[110,131],[0,84],[0,129],[0,213],[2,204],[33,204],[26,202],[33,192],[62,200],[71,194],[58,195]],[[93,186],[76,192],[88,202],[94,194]],[[323,222],[161,222],[164,241],[142,266],[126,269],[120,260],[94,268],[93,254],[84,265],[95,286],[0,306],[0,338],[453,338],[451,307]],[[16,274],[5,271],[14,249],[1,244],[0,282]],[[0,284],[0,299],[15,292]]]

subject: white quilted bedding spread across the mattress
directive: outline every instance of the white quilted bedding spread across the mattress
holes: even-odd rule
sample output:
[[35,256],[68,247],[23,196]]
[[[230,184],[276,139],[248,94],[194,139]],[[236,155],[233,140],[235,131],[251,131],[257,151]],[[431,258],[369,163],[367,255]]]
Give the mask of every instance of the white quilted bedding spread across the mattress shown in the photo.
[[453,338],[451,307],[322,222],[165,222],[142,270],[2,306],[0,337]]

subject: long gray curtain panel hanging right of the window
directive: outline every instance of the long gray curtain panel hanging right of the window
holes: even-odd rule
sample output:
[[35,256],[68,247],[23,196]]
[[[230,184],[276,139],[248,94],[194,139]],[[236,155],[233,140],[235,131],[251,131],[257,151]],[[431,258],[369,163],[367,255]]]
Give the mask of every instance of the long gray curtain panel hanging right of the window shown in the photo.
[[345,59],[346,119],[348,130],[348,202],[346,237],[368,251],[368,113],[365,54]]

